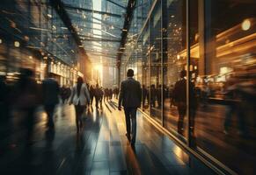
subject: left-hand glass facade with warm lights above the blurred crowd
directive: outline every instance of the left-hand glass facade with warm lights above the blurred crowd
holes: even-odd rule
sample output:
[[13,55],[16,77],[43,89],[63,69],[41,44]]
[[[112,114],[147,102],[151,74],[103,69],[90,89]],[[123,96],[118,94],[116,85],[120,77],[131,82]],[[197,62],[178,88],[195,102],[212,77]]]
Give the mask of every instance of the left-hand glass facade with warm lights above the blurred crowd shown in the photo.
[[77,75],[88,74],[87,55],[82,55],[48,0],[1,3],[0,75],[8,82],[17,81],[21,68],[32,69],[38,82],[51,73],[61,86],[71,86]]

